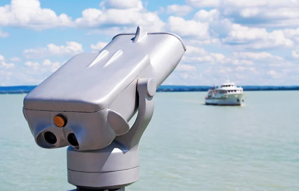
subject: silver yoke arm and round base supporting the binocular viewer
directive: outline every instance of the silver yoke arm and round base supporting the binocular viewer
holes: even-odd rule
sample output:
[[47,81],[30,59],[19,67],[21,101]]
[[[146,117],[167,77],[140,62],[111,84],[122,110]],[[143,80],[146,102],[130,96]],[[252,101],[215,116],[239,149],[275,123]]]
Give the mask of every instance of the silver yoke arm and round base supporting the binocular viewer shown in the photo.
[[125,188],[139,180],[139,141],[154,109],[155,81],[138,81],[139,108],[130,130],[99,150],[67,149],[68,182],[81,190],[113,190]]

